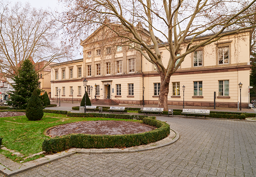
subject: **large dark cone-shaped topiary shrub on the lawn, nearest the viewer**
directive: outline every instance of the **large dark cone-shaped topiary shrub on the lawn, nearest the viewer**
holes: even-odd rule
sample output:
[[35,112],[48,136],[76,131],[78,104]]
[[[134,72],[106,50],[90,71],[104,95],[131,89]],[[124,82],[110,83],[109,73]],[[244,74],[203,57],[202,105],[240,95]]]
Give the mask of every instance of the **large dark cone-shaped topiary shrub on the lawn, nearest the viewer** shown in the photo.
[[43,106],[37,95],[37,90],[35,89],[28,100],[26,116],[28,120],[40,120],[42,119],[43,114]]

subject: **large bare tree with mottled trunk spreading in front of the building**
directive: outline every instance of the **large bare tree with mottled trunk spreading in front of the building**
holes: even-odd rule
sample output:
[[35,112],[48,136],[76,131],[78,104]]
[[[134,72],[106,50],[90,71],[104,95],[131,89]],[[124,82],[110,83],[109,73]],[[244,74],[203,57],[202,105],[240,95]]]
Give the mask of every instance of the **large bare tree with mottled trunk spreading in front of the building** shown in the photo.
[[[223,36],[254,28],[255,7],[246,0],[65,0],[64,24],[69,34],[76,38],[95,30],[98,24],[113,30],[126,42],[135,42],[135,50],[156,66],[161,78],[158,106],[167,110],[170,77],[176,72],[189,53],[206,46]],[[105,18],[119,25],[118,31],[104,23]],[[145,41],[139,27],[147,28],[151,44]],[[90,29],[90,30],[89,30]],[[131,35],[123,35],[123,31]],[[203,34],[212,35],[207,40],[197,40]],[[156,34],[167,42],[161,43]],[[197,42],[195,43],[195,41]],[[177,56],[186,43],[185,51]],[[162,63],[159,47],[170,52],[167,65]]]

